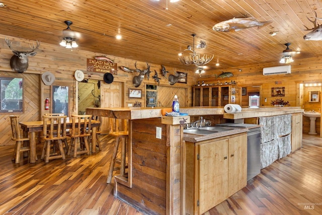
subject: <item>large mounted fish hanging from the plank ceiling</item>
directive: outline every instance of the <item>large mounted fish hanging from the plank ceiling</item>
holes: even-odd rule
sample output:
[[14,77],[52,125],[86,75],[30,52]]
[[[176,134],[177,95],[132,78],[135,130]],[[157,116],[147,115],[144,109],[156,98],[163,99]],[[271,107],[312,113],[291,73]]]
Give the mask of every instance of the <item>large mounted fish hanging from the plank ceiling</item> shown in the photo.
[[212,30],[214,31],[222,31],[222,32],[235,32],[247,28],[252,27],[258,27],[257,29],[260,29],[273,21],[267,21],[267,22],[259,22],[254,17],[249,18],[233,18],[230,20],[226,20],[220,23],[217,23],[212,27]]

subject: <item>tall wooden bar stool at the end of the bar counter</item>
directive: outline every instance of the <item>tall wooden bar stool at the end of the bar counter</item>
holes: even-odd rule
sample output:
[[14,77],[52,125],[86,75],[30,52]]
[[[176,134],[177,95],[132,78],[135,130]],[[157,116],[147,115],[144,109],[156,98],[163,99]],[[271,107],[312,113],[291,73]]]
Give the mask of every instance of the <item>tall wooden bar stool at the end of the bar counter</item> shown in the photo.
[[[107,175],[107,181],[106,183],[111,183],[112,181],[112,175],[114,171],[114,164],[117,163],[120,165],[120,175],[125,176],[125,169],[127,167],[126,165],[126,144],[128,144],[128,139],[129,139],[129,132],[127,130],[127,120],[123,120],[123,125],[124,129],[123,131],[119,130],[119,120],[115,119],[115,126],[113,126],[113,123],[111,123],[110,120],[110,132],[109,135],[112,135],[115,137],[115,144],[114,144],[114,149],[113,149],[113,154],[112,154],[112,159],[111,159],[111,165],[110,169]],[[113,130],[113,128],[115,128]],[[121,158],[117,159],[117,152],[119,148],[119,143],[121,141]]]

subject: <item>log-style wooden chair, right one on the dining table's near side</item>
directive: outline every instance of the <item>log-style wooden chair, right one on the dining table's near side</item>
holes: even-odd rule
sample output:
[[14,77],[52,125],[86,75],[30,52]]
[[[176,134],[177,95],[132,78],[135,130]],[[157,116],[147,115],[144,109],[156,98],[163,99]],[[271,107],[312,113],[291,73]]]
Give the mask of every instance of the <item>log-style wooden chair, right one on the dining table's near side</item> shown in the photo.
[[[72,147],[74,147],[74,158],[77,157],[77,154],[90,155],[88,138],[89,136],[91,136],[92,115],[72,115],[71,120],[71,130],[67,134],[68,136],[70,136],[70,143],[68,146],[67,155],[70,155]],[[77,145],[77,138],[79,138],[79,145]],[[85,149],[83,149],[83,147],[81,146],[82,140],[84,141]],[[81,150],[78,151],[78,147]]]

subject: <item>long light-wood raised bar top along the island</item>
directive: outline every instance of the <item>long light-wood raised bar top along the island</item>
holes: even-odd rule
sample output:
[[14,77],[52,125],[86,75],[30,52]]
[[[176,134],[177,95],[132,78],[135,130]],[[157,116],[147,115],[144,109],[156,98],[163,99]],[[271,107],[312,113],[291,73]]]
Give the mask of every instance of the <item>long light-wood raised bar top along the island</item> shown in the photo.
[[[95,116],[104,116],[118,119],[147,119],[162,117],[162,108],[87,108],[86,113]],[[292,113],[303,113],[300,107],[261,107],[242,108],[239,113],[225,113],[223,108],[214,107],[187,107],[180,108],[181,113],[189,116],[223,115],[225,119],[244,119],[253,117],[276,116]]]

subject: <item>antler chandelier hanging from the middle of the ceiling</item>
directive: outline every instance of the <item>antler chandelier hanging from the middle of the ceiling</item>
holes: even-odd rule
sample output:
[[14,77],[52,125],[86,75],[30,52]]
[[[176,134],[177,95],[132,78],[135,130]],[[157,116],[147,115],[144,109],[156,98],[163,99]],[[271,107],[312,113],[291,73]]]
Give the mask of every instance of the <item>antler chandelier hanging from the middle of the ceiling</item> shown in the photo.
[[[209,63],[212,60],[213,55],[208,57],[207,54],[204,54],[202,57],[200,57],[199,52],[195,51],[196,34],[192,34],[191,36],[193,36],[192,50],[191,50],[191,45],[188,45],[185,51],[191,51],[192,53],[189,53],[189,56],[179,56],[178,59],[181,61],[181,63],[186,65],[195,64],[196,66],[200,66],[200,65],[205,65]],[[200,44],[198,44],[198,47],[204,48],[206,47],[206,43],[204,41],[200,41]]]

